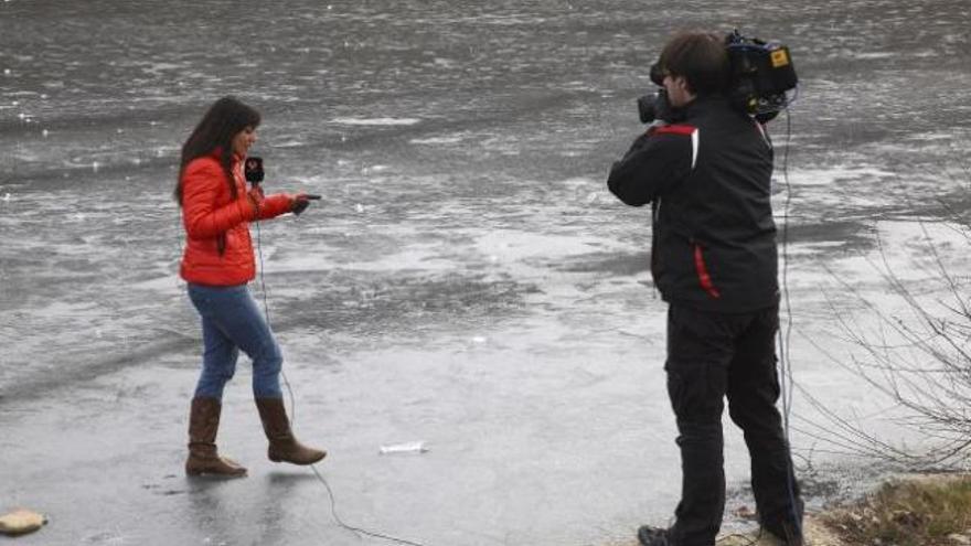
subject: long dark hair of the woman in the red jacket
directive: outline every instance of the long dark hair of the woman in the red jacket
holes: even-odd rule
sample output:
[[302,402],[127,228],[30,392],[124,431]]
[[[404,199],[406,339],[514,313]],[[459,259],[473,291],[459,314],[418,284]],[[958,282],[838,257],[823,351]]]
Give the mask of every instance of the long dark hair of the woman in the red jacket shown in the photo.
[[209,108],[192,135],[182,144],[182,161],[179,165],[179,180],[172,192],[175,202],[182,206],[182,174],[185,165],[195,158],[220,152],[220,164],[230,181],[230,192],[236,199],[236,182],[233,179],[233,137],[247,127],[259,126],[259,113],[244,105],[235,97],[223,97]]

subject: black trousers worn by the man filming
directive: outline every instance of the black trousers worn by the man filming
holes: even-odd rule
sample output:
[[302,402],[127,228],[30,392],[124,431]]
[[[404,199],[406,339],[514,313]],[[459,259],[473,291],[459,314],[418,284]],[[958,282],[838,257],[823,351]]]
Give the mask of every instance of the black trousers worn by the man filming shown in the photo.
[[[797,528],[802,501],[792,477],[782,418],[776,408],[779,308],[713,313],[672,303],[668,310],[668,394],[677,419],[683,472],[670,538],[676,546],[712,546],[725,508],[722,410],[744,435],[759,521],[770,531]],[[792,505],[796,505],[796,510]]]

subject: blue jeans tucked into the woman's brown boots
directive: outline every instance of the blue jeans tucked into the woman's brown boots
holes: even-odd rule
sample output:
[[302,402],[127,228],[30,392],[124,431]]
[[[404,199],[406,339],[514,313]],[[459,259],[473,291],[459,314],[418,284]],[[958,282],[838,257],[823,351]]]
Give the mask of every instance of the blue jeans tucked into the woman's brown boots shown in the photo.
[[222,399],[236,372],[242,349],[253,360],[253,394],[280,398],[280,347],[246,285],[207,287],[189,283],[189,299],[202,318],[202,375],[196,397]]

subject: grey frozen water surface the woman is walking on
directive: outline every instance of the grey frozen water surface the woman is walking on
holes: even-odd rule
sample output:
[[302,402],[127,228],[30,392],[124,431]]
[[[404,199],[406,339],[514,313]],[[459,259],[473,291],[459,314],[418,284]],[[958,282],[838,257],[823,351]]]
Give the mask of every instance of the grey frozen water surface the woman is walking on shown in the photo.
[[[877,235],[920,282],[914,220],[967,218],[965,0],[7,0],[0,511],[51,517],[18,544],[384,543],[340,528],[309,470],[265,460],[245,360],[220,445],[249,478],[182,474],[201,341],[170,192],[181,142],[226,94],[264,114],[268,191],[324,195],[259,238],[296,429],[331,452],[341,517],[428,546],[598,545],[666,521],[680,470],[648,211],[604,181],[681,28],[790,46],[800,96],[771,130],[796,381],[903,435],[820,346],[852,349],[833,312],[861,306],[841,282],[887,291]],[[799,393],[800,464],[864,465]],[[413,440],[429,451],[378,454]],[[727,441],[729,508],[750,505]],[[813,475],[817,502],[833,472]]]

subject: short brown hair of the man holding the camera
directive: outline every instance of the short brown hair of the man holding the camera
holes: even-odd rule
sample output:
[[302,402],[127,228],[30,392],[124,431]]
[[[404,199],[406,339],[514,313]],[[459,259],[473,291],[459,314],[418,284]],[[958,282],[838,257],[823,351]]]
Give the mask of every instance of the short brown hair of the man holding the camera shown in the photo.
[[714,95],[728,87],[732,65],[725,41],[709,32],[680,32],[661,51],[658,65],[672,76],[682,76],[692,93]]

